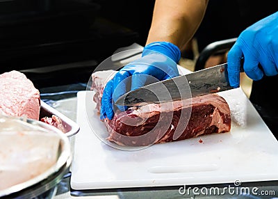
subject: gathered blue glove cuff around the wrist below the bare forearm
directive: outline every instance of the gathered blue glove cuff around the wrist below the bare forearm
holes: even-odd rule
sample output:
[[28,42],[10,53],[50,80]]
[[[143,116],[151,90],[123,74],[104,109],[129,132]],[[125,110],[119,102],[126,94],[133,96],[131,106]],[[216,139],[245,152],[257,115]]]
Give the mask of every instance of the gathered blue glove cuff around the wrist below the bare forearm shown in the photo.
[[146,45],[142,51],[142,56],[146,56],[150,53],[160,53],[171,58],[175,63],[179,62],[181,58],[181,51],[179,47],[172,44],[171,42],[152,42]]

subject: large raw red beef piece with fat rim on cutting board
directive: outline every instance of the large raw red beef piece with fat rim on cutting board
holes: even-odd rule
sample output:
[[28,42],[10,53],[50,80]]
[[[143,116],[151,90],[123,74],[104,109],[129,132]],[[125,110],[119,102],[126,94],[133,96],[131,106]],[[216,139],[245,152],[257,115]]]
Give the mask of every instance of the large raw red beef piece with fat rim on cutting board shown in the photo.
[[[97,102],[97,111],[105,83],[111,79],[111,75],[105,75],[104,72],[92,74],[91,89],[96,92],[93,100]],[[98,82],[94,83],[96,79]],[[101,79],[104,80],[102,84]],[[231,113],[223,97],[210,94],[162,104],[134,106],[124,112],[115,111],[113,119],[105,119],[104,123],[108,130],[108,141],[118,145],[146,146],[229,132]]]

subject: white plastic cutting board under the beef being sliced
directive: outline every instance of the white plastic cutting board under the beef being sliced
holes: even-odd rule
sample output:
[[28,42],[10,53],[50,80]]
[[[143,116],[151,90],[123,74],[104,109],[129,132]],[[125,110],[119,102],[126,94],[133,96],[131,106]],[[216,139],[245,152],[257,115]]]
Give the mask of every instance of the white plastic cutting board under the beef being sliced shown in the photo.
[[81,129],[75,137],[72,189],[278,180],[277,140],[241,88],[219,93],[231,108],[231,132],[129,151],[106,145],[94,134],[107,136],[95,111],[93,94],[77,94]]

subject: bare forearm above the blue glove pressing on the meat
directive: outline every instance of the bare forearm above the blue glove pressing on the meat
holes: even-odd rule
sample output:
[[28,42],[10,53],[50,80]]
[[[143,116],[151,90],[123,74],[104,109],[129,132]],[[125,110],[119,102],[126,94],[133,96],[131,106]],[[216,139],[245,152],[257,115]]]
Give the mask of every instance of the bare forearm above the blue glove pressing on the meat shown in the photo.
[[202,22],[208,0],[156,0],[147,44],[172,42],[180,49]]

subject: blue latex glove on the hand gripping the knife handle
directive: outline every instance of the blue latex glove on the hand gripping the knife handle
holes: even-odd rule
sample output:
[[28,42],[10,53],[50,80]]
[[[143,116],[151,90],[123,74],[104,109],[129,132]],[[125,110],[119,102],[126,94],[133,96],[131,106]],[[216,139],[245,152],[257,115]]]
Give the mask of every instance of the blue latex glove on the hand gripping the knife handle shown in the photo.
[[240,85],[242,57],[244,57],[245,73],[255,81],[262,79],[264,74],[267,76],[278,74],[278,12],[245,29],[230,49],[229,82],[235,88]]

